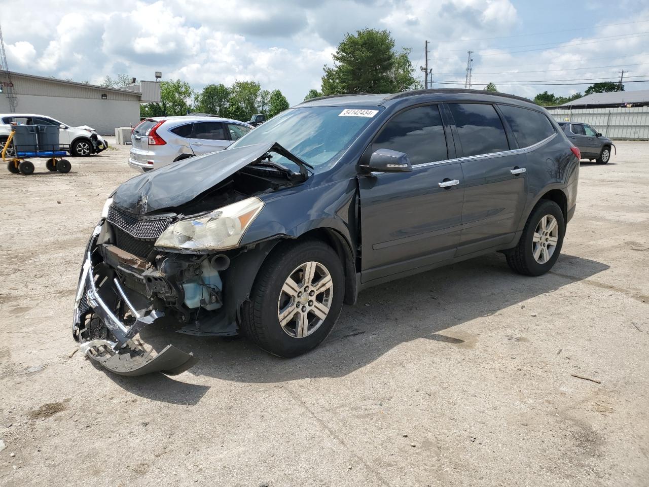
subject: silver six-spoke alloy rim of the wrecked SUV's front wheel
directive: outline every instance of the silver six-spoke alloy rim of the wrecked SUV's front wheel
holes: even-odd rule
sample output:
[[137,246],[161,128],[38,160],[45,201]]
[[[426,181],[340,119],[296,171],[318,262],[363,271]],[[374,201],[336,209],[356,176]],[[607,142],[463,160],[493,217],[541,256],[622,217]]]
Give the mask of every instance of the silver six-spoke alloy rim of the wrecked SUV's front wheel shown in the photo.
[[304,338],[324,323],[334,297],[334,281],[319,262],[305,262],[289,274],[277,303],[282,330]]

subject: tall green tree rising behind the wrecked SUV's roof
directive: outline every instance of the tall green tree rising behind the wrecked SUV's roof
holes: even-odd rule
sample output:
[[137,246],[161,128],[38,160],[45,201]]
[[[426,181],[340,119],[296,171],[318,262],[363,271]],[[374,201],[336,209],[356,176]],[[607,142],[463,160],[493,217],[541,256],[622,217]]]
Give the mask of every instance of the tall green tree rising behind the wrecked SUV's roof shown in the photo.
[[324,66],[323,95],[392,93],[417,86],[408,54],[395,51],[389,31],[363,29],[346,34],[334,54],[334,66]]

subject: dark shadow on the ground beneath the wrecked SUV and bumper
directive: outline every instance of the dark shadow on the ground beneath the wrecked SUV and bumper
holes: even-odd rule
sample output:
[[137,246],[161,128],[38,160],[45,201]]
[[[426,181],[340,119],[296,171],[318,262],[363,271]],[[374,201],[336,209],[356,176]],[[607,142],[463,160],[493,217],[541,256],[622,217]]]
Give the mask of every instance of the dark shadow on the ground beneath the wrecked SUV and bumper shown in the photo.
[[[273,383],[316,377],[343,377],[384,355],[400,343],[420,338],[463,346],[462,338],[443,331],[474,318],[555,292],[609,266],[562,255],[541,277],[511,272],[500,254],[486,255],[446,268],[389,282],[363,291],[354,306],[343,306],[334,331],[315,350],[297,358],[271,356],[245,339],[186,336],[149,327],[141,333],[158,349],[171,342],[201,361],[188,373],[225,381]],[[529,319],[529,311],[521,319]],[[121,377],[106,374],[125,390],[169,403],[195,404],[208,390],[162,374]]]

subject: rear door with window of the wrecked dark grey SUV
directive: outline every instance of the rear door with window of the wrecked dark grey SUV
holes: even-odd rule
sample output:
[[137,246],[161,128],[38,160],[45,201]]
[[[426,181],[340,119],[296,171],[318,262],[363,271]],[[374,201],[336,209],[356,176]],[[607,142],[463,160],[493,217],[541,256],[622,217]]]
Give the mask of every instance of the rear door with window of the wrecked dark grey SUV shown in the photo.
[[491,103],[447,106],[465,182],[457,255],[511,242],[526,203],[526,156],[510,150],[505,126]]

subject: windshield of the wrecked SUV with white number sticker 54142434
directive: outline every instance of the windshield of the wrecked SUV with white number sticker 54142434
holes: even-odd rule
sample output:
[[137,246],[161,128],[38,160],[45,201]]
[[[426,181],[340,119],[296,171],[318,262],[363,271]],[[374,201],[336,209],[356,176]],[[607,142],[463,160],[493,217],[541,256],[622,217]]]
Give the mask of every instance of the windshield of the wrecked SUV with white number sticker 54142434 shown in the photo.
[[[317,170],[347,149],[380,109],[379,106],[290,108],[250,131],[230,148],[277,142]],[[273,154],[272,161],[297,168],[284,156]]]

